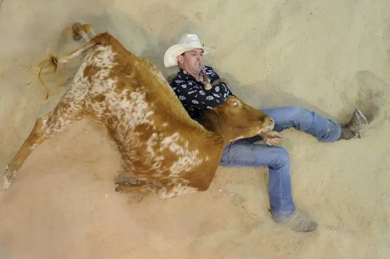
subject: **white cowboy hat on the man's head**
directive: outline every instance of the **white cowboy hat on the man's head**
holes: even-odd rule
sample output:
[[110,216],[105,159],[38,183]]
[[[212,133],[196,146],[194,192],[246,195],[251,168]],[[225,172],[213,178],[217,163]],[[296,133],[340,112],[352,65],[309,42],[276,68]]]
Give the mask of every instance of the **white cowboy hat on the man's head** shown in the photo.
[[177,56],[180,54],[193,50],[193,49],[202,49],[203,55],[208,54],[214,49],[205,48],[203,44],[200,44],[200,40],[195,34],[184,34],[179,42],[171,47],[164,54],[164,65],[166,68],[177,66]]

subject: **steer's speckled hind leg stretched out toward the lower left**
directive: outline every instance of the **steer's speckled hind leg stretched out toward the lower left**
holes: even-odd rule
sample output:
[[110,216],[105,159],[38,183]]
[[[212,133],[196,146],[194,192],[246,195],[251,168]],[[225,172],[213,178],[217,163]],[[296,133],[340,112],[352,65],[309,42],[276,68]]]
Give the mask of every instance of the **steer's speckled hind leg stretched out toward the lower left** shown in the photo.
[[[70,95],[70,96],[69,96]],[[45,139],[65,129],[70,123],[80,119],[80,105],[74,102],[71,94],[65,94],[60,100],[57,107],[47,115],[39,118],[30,135],[24,141],[16,155],[5,168],[5,173],[2,179],[4,190],[7,190],[15,180],[17,171],[30,153],[39,146]]]

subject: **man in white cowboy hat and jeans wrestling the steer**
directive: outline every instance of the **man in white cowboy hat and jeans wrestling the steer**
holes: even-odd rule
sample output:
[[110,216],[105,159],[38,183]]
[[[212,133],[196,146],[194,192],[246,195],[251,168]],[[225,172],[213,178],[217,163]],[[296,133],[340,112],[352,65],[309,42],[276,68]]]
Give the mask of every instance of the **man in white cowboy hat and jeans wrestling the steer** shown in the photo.
[[[186,34],[178,44],[171,46],[164,55],[165,67],[178,65],[178,72],[170,82],[186,111],[199,122],[204,109],[212,109],[233,95],[228,85],[219,83],[205,91],[202,81],[203,55],[214,51],[203,47],[194,34]],[[211,82],[219,79],[212,67],[204,66]],[[297,107],[263,109],[275,120],[274,131],[261,137],[236,140],[228,144],[223,152],[221,166],[268,166],[271,214],[276,222],[287,222],[294,231],[310,232],[317,228],[305,213],[296,209],[291,194],[291,169],[288,152],[278,144],[284,129],[295,128],[311,134],[320,142],[335,142],[341,139],[360,138],[359,131],[366,126],[367,119],[356,109],[351,121],[340,125],[325,119],[313,111]],[[254,144],[263,139],[267,145]]]

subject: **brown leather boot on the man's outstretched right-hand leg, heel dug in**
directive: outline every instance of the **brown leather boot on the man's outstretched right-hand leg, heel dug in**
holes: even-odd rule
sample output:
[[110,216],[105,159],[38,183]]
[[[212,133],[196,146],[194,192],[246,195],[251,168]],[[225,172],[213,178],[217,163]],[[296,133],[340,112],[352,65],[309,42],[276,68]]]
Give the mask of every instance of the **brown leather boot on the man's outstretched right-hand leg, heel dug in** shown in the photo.
[[359,109],[355,109],[352,113],[351,120],[344,125],[341,125],[341,135],[338,140],[361,138],[360,130],[368,125],[368,121],[363,112]]

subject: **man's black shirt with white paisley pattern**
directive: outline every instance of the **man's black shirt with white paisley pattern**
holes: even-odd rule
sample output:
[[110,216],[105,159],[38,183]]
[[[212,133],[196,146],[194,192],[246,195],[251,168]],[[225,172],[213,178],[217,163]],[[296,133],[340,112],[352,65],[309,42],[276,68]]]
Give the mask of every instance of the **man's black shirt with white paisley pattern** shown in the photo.
[[[212,67],[205,66],[205,68],[210,83],[219,79]],[[215,85],[210,91],[205,90],[202,81],[181,68],[169,84],[190,117],[196,121],[202,110],[215,108],[223,104],[229,95],[234,95],[225,83]]]

